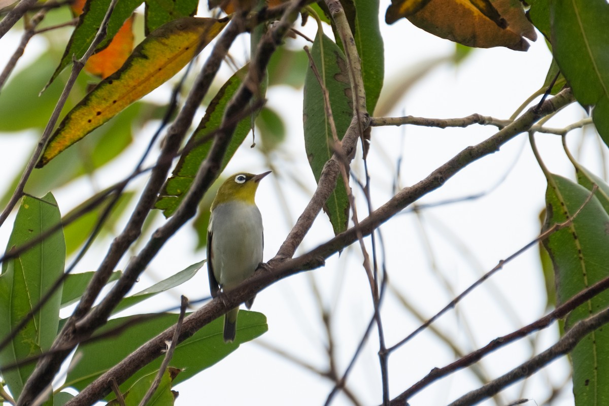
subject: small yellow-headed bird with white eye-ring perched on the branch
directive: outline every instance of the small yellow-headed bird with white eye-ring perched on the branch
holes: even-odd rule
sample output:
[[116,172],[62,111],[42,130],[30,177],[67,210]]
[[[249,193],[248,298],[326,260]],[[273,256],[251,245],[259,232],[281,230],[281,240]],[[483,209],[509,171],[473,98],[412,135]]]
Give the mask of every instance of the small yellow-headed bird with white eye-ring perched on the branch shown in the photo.
[[[209,290],[215,298],[220,289],[229,292],[252,276],[262,262],[262,216],[254,197],[259,181],[271,171],[229,177],[211,203],[207,229],[207,269]],[[255,297],[255,296],[254,296]],[[245,302],[248,309],[254,298]],[[224,315],[224,341],[234,341],[239,307]]]

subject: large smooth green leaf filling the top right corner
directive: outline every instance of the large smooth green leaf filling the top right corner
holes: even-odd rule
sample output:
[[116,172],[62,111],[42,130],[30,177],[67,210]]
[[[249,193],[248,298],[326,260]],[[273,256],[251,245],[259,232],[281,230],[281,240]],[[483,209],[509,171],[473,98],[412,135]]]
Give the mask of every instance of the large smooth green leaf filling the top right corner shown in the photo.
[[609,4],[605,0],[552,1],[552,49],[561,72],[609,145]]

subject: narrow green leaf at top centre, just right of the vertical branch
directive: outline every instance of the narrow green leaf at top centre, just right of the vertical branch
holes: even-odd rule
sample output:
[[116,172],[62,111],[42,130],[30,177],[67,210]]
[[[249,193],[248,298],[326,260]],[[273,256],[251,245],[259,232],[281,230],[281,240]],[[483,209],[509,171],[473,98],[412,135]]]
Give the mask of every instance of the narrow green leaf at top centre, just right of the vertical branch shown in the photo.
[[379,1],[354,0],[354,3],[356,13],[353,37],[362,61],[366,107],[368,113],[373,114],[385,74],[385,54],[378,18]]

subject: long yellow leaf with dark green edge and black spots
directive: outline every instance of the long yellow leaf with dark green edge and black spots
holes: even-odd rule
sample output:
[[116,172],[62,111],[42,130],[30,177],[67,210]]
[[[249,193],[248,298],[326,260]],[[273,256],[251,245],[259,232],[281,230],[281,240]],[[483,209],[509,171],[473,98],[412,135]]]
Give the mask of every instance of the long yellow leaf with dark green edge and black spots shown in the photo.
[[63,118],[37,167],[43,167],[58,153],[171,79],[227,22],[227,19],[185,17],[150,33],[121,69],[99,82]]

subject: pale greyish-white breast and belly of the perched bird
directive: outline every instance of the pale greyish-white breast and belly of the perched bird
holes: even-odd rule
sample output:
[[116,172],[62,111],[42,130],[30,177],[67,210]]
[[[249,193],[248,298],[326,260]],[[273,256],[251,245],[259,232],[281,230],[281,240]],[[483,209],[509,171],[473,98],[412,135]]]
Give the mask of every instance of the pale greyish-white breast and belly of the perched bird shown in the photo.
[[262,261],[262,216],[256,205],[231,201],[214,208],[209,229],[214,276],[225,291],[231,290]]

